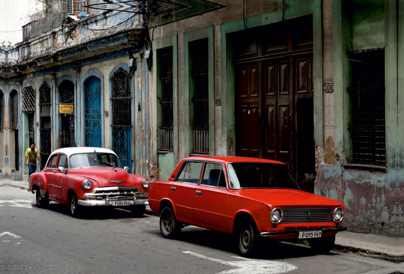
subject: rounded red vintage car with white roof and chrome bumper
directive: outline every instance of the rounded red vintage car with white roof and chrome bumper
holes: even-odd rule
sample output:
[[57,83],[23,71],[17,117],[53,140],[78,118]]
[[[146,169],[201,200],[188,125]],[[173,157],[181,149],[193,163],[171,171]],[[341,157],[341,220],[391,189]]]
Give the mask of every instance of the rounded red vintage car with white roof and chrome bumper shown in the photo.
[[45,168],[29,177],[28,191],[36,194],[38,207],[49,201],[70,205],[73,217],[83,207],[125,207],[135,217],[148,205],[148,179],[129,174],[118,156],[103,148],[64,148],[49,156]]

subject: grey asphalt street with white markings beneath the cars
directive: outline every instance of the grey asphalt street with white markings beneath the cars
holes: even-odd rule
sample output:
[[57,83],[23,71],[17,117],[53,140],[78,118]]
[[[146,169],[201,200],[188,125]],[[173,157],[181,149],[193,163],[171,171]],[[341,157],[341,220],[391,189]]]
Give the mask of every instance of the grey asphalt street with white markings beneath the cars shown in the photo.
[[160,235],[159,217],[90,210],[80,219],[25,190],[0,187],[0,273],[394,273],[396,264],[352,254],[315,255],[306,246],[266,241],[254,260],[233,238],[189,226],[178,240]]

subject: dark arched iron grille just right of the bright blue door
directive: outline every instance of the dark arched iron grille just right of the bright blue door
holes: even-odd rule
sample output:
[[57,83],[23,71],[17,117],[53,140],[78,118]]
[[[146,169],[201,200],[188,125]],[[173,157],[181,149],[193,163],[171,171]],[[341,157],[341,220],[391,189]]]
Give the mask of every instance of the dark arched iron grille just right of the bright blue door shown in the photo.
[[132,170],[132,111],[130,94],[130,76],[119,68],[112,80],[112,150],[118,155],[123,166]]

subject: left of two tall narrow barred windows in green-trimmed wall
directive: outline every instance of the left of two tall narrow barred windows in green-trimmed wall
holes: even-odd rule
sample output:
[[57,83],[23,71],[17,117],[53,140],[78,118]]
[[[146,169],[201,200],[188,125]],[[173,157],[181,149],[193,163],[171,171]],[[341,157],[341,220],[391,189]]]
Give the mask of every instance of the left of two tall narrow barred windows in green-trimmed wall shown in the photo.
[[173,112],[173,49],[162,50],[161,82],[162,82],[162,126],[161,126],[161,150],[174,151],[174,112]]

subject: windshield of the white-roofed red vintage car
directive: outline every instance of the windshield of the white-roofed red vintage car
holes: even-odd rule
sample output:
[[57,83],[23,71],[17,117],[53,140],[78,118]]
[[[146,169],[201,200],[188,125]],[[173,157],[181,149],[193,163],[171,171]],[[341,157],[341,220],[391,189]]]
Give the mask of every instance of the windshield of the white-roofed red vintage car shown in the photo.
[[70,168],[91,166],[121,167],[118,157],[111,153],[80,153],[70,156]]

